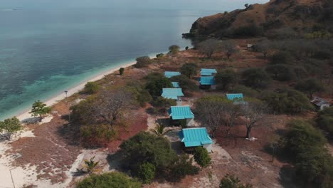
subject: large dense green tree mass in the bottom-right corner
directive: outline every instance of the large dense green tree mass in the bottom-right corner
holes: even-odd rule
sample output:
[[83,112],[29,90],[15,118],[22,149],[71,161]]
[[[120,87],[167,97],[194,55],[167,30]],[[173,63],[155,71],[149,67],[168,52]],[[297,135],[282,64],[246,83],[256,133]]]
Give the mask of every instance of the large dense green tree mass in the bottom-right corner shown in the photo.
[[302,120],[289,125],[282,148],[295,163],[297,179],[311,187],[332,187],[333,157],[324,147],[327,141],[322,132]]

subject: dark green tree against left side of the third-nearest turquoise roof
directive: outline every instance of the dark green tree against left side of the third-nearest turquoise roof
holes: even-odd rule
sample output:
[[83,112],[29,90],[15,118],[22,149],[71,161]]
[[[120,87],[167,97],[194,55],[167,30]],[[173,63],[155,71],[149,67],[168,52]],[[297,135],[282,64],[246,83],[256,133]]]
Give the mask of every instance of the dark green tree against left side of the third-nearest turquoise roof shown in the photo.
[[146,89],[153,97],[160,96],[163,88],[173,88],[168,78],[162,77],[149,80],[146,86]]

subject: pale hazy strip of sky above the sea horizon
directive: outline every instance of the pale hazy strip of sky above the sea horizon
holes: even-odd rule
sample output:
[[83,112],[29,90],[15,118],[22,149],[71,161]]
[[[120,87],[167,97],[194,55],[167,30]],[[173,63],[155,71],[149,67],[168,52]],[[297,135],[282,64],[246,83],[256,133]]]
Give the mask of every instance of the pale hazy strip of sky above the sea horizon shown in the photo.
[[231,11],[244,4],[265,3],[269,0],[0,0],[1,8],[24,9],[41,7],[113,7],[154,9],[197,9]]

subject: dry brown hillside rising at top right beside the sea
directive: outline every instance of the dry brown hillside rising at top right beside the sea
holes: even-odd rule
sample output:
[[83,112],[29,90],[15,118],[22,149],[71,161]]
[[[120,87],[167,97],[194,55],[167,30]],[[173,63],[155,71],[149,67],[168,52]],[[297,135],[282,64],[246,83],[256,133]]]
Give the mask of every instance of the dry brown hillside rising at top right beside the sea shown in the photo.
[[332,23],[332,0],[271,0],[200,18],[185,36],[247,37],[287,28],[295,33],[309,33],[314,26],[332,33]]

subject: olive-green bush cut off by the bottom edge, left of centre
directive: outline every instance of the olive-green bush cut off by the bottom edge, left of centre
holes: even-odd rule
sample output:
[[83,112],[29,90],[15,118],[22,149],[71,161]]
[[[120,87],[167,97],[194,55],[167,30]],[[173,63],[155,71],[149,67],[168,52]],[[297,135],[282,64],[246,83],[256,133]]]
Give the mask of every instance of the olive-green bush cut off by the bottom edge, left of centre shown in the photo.
[[91,175],[81,182],[78,182],[76,188],[140,188],[142,184],[136,179],[128,177],[120,172],[108,172],[99,175]]

